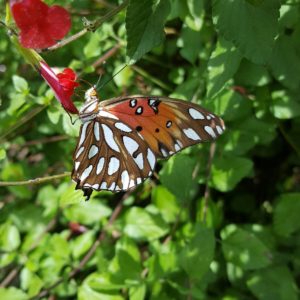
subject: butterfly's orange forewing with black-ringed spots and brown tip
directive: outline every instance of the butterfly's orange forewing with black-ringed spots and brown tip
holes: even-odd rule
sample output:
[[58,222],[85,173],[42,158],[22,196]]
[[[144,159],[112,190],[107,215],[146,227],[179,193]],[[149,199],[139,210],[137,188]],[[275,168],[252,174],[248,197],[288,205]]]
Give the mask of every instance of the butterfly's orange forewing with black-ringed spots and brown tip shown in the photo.
[[213,140],[225,129],[221,118],[178,99],[131,96],[100,102],[100,109],[139,132],[160,158]]

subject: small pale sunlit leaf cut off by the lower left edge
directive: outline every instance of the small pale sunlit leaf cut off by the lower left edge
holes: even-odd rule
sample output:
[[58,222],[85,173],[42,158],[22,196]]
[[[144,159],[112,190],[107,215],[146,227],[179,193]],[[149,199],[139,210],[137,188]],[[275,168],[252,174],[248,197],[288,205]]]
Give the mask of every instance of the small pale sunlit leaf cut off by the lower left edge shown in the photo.
[[0,249],[13,251],[21,244],[20,233],[16,226],[5,223],[0,226]]

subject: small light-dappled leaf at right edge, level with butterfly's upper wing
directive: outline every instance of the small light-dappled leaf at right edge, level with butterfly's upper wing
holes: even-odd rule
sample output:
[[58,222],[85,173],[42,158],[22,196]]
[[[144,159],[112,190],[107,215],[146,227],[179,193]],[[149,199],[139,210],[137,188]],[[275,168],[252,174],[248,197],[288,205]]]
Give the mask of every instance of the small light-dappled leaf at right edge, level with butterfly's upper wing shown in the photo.
[[300,116],[300,103],[298,96],[286,90],[272,93],[272,105],[270,110],[277,119],[292,119]]

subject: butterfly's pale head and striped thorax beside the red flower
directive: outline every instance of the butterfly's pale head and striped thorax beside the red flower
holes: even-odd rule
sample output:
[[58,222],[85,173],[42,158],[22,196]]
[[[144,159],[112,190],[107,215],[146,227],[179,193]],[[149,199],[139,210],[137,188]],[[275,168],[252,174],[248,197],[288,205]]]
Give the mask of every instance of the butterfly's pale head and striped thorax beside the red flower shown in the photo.
[[79,117],[82,122],[94,119],[99,112],[99,97],[96,87],[93,86],[85,92],[85,102],[79,110]]

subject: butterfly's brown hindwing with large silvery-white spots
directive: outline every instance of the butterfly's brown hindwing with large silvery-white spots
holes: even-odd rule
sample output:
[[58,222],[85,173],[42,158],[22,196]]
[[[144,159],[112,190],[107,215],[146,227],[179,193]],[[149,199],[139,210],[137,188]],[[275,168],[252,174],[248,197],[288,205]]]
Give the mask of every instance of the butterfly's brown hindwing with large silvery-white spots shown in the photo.
[[74,153],[77,188],[126,191],[148,178],[156,157],[140,134],[101,115],[82,125]]

